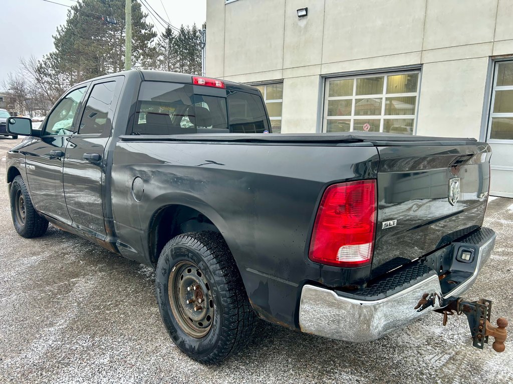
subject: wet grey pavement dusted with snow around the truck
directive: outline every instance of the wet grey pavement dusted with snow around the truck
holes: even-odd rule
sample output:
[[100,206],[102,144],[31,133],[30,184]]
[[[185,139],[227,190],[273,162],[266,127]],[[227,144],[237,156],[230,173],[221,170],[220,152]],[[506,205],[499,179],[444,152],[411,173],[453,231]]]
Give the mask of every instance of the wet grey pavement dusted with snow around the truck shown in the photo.
[[[17,140],[20,141],[20,140]],[[466,321],[429,314],[367,344],[348,344],[261,322],[248,350],[205,367],[170,341],[153,270],[50,226],[27,240],[11,224],[0,138],[0,382],[513,382],[506,352],[471,347]],[[484,273],[467,292],[494,300],[513,321],[513,200],[492,199],[485,225],[498,233]]]

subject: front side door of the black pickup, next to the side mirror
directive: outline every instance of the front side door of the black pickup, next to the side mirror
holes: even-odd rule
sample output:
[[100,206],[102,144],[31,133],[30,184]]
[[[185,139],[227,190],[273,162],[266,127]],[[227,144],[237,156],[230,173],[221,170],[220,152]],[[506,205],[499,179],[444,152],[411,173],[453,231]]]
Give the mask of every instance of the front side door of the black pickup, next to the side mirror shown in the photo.
[[24,147],[27,179],[37,211],[71,224],[63,190],[63,160],[87,86],[71,90],[48,115],[41,138]]

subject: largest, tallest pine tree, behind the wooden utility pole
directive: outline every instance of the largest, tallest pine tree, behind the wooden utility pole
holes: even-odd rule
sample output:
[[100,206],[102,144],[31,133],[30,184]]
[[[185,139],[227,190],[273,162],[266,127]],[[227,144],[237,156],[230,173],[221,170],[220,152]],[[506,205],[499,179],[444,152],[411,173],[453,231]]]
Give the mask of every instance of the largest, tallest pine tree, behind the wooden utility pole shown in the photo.
[[[105,18],[115,19],[115,24]],[[141,4],[132,0],[132,67],[154,58],[153,27]],[[68,11],[66,24],[53,36],[55,51],[41,62],[47,76],[60,76],[64,88],[124,69],[125,0],[81,0]]]

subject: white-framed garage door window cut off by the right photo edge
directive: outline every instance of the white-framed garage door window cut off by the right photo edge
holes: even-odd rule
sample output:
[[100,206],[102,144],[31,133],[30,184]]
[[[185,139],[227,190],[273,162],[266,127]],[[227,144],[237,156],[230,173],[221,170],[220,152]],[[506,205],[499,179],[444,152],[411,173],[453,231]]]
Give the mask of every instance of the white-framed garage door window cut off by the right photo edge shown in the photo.
[[513,140],[513,61],[495,65],[488,138]]

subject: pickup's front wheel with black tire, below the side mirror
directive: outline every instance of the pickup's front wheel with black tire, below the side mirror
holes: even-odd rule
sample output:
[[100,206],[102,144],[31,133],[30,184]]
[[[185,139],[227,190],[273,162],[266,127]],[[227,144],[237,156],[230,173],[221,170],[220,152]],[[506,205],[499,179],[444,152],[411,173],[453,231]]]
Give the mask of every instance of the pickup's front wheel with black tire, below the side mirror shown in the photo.
[[11,185],[11,215],[16,232],[24,238],[43,236],[48,228],[48,221],[35,211],[27,186],[19,175]]

